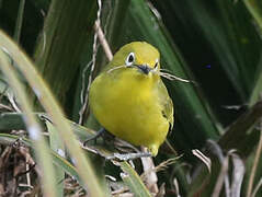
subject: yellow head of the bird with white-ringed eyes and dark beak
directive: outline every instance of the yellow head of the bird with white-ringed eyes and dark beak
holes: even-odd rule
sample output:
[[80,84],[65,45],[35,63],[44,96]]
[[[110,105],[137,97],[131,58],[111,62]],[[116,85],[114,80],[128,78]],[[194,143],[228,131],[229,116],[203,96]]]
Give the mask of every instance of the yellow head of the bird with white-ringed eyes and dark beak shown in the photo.
[[123,46],[110,63],[109,72],[126,68],[146,76],[158,73],[160,56],[157,48],[146,42],[133,42]]

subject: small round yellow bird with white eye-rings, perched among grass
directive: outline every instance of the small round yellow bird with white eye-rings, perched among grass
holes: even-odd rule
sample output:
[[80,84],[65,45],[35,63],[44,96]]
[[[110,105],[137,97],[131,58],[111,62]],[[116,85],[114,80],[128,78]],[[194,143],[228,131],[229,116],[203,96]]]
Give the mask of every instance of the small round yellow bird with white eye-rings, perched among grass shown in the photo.
[[173,104],[160,78],[160,55],[145,42],[123,46],[94,79],[90,107],[114,136],[156,157],[173,127]]

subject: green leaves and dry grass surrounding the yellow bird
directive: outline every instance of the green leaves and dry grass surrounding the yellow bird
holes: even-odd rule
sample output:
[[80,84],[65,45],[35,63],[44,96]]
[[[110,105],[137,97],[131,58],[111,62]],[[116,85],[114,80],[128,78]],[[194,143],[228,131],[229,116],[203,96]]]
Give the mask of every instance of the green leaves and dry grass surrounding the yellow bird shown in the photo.
[[[119,161],[123,141],[79,146],[99,129],[88,86],[109,62],[98,19],[113,53],[146,40],[191,81],[164,81],[175,125],[148,171]],[[262,195],[259,0],[1,0],[0,28],[0,195]]]

